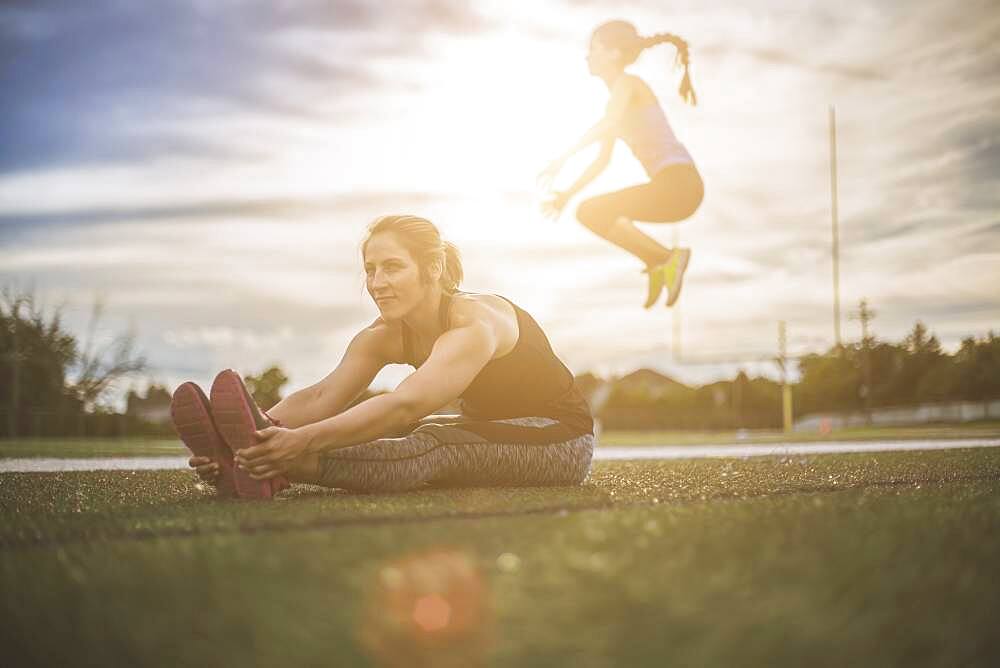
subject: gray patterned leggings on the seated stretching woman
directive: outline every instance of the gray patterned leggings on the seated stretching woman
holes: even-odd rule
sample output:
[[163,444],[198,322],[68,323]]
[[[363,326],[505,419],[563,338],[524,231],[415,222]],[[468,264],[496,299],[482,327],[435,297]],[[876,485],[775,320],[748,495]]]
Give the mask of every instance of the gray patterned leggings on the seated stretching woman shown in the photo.
[[431,416],[401,438],[319,457],[320,485],[357,492],[433,487],[577,485],[590,471],[593,434],[556,420]]

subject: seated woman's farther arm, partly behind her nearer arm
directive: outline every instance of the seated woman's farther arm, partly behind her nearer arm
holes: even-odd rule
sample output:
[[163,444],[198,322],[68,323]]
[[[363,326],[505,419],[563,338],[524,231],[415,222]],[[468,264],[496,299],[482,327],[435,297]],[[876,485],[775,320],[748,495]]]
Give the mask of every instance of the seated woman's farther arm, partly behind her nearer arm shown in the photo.
[[386,359],[388,327],[376,321],[358,332],[326,378],[281,400],[268,415],[285,427],[302,427],[340,413],[367,388]]

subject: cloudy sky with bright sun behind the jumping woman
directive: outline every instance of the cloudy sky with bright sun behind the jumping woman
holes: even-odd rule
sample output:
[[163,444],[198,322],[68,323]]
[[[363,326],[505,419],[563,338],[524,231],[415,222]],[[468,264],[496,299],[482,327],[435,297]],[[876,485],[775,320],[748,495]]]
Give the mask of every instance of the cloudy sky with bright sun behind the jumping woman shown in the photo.
[[[673,311],[572,215],[644,180],[624,146],[558,221],[539,209],[536,175],[601,116],[584,55],[616,18],[690,46],[697,106],[669,45],[632,68],[706,184],[645,228],[692,249]],[[377,315],[359,242],[387,213],[438,224],[463,287],[531,312],[575,372],[774,376],[779,321],[792,355],[834,342],[831,107],[843,339],[863,298],[887,340],[1000,329],[995,0],[13,1],[0,86],[0,285],[81,336],[100,301],[97,342],[133,332],[170,387],[325,376]]]

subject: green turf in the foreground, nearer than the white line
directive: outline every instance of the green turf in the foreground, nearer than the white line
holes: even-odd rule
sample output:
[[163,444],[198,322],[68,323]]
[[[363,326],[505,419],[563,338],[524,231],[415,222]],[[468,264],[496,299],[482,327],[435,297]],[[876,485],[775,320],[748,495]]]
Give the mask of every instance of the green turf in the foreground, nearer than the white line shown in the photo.
[[5,665],[1000,661],[1000,448],[271,503],[8,473],[0,512]]

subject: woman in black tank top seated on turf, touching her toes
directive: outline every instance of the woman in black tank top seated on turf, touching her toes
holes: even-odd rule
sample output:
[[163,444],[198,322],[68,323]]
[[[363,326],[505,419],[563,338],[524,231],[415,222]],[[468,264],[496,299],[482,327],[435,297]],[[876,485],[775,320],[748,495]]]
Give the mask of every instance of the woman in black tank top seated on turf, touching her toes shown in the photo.
[[[174,393],[198,475],[241,498],[290,482],[364,492],[580,483],[593,420],[538,323],[502,297],[460,292],[458,250],[424,218],[377,219],[362,256],[381,315],[326,378],[267,413],[228,369],[210,399],[190,382]],[[416,370],[347,408],[395,363]],[[462,415],[431,415],[456,399]]]

